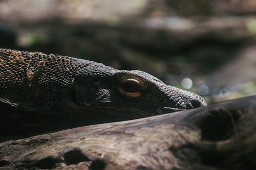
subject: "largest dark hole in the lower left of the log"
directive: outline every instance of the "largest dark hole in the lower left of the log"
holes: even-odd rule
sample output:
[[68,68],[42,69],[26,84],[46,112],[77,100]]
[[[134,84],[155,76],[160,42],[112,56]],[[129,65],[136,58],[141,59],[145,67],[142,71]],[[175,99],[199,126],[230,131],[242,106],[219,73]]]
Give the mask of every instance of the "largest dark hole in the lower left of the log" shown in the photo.
[[79,148],[74,148],[64,154],[64,159],[67,165],[78,164],[83,161],[90,161],[90,159],[82,153]]

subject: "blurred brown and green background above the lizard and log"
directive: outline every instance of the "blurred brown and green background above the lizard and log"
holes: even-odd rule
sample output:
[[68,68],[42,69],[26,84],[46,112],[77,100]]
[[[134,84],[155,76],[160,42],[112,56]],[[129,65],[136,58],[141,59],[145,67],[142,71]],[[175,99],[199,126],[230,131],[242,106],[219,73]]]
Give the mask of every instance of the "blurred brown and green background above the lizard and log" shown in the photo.
[[0,0],[0,47],[139,69],[208,104],[256,94],[254,0]]

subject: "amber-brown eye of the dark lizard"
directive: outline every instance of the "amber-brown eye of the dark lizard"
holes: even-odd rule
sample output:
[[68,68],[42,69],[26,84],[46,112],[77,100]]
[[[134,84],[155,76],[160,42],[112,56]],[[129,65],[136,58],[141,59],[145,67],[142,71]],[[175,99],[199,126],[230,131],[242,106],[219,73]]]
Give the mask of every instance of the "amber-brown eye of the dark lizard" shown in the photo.
[[119,84],[119,91],[121,94],[128,97],[141,96],[143,82],[134,78],[123,78]]

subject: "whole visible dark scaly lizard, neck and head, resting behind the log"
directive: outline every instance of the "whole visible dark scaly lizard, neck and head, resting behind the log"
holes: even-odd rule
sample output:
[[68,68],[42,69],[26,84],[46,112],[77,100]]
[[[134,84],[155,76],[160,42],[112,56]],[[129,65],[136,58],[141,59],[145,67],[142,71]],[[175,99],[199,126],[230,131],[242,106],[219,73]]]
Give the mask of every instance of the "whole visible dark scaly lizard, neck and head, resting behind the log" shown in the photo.
[[0,103],[41,114],[124,111],[138,117],[206,106],[201,96],[143,71],[2,48]]

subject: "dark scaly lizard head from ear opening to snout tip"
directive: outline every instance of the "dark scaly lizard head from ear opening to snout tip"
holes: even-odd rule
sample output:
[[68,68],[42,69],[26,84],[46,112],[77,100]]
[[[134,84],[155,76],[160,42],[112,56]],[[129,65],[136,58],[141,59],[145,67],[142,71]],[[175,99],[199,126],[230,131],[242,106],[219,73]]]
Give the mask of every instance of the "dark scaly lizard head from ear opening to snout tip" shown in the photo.
[[83,110],[145,117],[207,105],[201,96],[166,85],[146,72],[108,68],[90,74],[83,70],[75,79],[77,105]]

